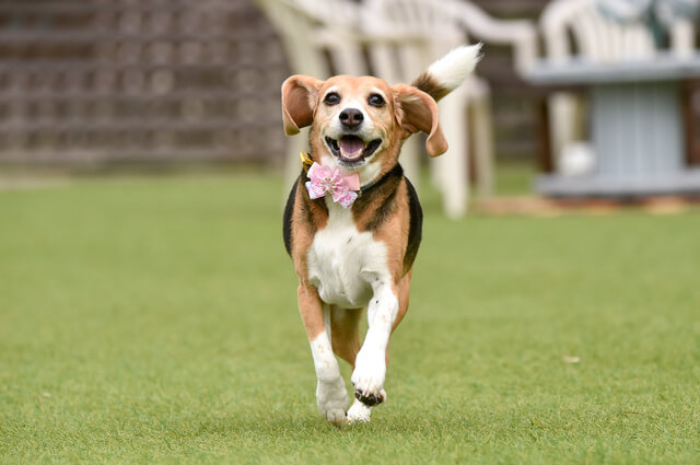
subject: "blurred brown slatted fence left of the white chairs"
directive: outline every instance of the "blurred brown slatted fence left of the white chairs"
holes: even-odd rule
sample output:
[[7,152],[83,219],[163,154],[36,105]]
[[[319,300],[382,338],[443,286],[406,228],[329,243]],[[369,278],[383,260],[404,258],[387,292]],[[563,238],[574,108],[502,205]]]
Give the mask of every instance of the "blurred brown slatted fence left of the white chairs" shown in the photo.
[[273,163],[280,38],[246,0],[0,2],[3,165]]

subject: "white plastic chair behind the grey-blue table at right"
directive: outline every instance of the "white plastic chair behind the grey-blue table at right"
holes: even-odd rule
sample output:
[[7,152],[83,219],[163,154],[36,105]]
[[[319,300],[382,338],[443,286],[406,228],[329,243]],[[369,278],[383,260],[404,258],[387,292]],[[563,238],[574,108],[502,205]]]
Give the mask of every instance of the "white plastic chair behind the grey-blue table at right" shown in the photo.
[[[573,58],[569,35],[579,55],[593,62],[653,59],[658,53],[653,34],[641,21],[620,23],[600,13],[597,0],[553,0],[539,22],[548,60],[561,62]],[[669,31],[670,51],[689,55],[695,49],[695,27],[690,21],[677,21]],[[550,142],[558,171],[569,163],[564,154],[580,153],[585,142],[581,128],[581,105],[569,93],[555,93],[548,102]],[[571,150],[570,150],[571,149]],[[590,148],[587,150],[591,150]],[[594,153],[590,156],[595,158]]]

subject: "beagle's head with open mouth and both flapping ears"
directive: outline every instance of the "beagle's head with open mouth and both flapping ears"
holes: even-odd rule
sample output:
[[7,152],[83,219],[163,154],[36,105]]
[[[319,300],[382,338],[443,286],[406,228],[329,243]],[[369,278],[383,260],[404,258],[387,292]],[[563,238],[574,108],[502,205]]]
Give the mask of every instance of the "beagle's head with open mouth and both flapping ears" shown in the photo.
[[312,126],[315,161],[358,171],[365,183],[396,165],[404,139],[413,132],[429,135],[425,147],[431,156],[447,150],[432,97],[373,77],[319,81],[293,75],[282,85],[282,114],[288,135]]

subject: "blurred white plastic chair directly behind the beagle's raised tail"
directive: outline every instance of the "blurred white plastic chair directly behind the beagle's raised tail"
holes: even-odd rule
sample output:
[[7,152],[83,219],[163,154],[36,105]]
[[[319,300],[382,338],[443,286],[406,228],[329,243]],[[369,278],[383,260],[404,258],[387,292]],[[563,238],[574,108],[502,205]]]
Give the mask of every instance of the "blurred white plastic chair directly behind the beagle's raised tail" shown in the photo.
[[[516,69],[524,70],[537,55],[537,31],[529,21],[495,20],[465,0],[365,0],[365,4],[366,19],[361,23],[371,32],[373,45],[370,49],[377,56],[374,62],[390,62],[389,56],[383,55],[386,44],[382,43],[387,38],[393,40],[392,45],[405,63],[404,75],[397,77],[398,80],[410,81],[436,57],[471,39],[512,46]],[[382,33],[383,38],[380,37]],[[390,75],[390,70],[384,71]],[[493,194],[489,85],[478,78],[477,69],[465,85],[440,105],[441,121],[451,149],[430,162],[433,181],[443,188],[445,211],[458,217],[464,212],[468,196],[469,142],[474,149],[469,156],[472,156],[476,170],[476,191],[480,197]]]

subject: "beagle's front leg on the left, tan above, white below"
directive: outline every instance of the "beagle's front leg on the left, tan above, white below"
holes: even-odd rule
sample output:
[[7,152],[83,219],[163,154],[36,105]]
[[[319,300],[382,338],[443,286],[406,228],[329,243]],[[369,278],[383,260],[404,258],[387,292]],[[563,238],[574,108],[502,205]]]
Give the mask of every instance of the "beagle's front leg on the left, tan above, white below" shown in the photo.
[[329,309],[324,306],[318,292],[310,284],[300,284],[298,295],[316,369],[318,410],[328,421],[340,426],[346,420],[348,392],[330,345]]

